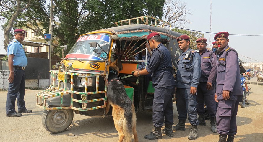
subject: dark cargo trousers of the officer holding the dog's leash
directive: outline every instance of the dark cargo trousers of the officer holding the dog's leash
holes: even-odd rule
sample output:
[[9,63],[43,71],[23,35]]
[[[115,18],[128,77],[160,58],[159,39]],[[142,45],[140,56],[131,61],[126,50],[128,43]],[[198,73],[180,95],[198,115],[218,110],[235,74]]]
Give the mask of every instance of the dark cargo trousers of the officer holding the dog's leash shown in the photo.
[[174,86],[155,87],[152,122],[155,127],[163,126],[163,121],[167,125],[173,125],[173,100]]

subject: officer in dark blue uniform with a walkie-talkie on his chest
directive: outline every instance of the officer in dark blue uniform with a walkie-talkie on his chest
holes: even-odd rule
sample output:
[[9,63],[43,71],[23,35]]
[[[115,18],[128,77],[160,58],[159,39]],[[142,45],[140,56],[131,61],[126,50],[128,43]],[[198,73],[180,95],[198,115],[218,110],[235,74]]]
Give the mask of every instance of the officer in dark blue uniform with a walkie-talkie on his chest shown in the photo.
[[196,93],[201,75],[201,56],[197,51],[190,49],[190,37],[187,35],[178,37],[177,42],[182,50],[177,61],[176,74],[176,107],[179,122],[172,129],[185,131],[188,114],[188,120],[192,125],[188,139],[194,140],[197,138],[198,130]]

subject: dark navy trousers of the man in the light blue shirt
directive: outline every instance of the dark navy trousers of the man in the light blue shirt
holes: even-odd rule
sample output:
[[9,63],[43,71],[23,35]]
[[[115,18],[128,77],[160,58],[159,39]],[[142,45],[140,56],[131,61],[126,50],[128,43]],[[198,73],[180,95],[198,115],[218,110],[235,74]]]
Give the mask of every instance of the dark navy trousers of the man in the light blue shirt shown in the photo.
[[14,69],[14,80],[9,83],[7,102],[6,102],[6,114],[15,112],[15,102],[17,98],[18,111],[25,108],[25,70]]

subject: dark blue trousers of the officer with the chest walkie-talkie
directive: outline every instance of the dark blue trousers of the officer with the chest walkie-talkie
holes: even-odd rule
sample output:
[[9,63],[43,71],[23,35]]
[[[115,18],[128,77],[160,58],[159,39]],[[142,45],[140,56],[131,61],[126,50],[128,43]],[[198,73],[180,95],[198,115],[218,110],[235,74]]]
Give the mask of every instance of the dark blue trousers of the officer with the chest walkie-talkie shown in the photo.
[[188,114],[190,124],[198,125],[196,105],[196,95],[190,94],[190,89],[176,89],[176,108],[179,120],[186,120]]

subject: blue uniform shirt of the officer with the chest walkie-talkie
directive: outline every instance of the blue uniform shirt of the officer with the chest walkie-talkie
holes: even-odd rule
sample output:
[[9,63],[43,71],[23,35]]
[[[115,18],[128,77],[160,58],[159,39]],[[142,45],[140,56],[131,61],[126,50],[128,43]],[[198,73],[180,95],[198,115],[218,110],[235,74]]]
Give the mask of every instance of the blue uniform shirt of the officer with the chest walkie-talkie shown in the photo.
[[[185,59],[187,51],[191,51]],[[201,56],[190,48],[180,55],[177,61],[176,87],[190,89],[199,85],[201,76]]]

